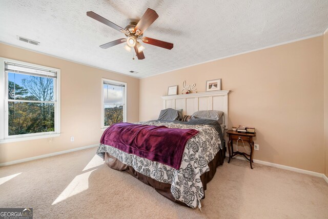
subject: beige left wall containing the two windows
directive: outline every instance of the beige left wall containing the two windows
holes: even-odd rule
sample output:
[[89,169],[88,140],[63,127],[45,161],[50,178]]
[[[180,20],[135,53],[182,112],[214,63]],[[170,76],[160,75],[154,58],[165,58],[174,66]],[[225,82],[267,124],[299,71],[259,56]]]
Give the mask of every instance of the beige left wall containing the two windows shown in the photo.
[[[126,82],[127,120],[139,118],[139,79],[0,44],[0,57],[61,70],[61,134],[25,142],[0,144],[0,163],[98,144],[102,134],[101,78]],[[74,142],[70,142],[74,136]]]

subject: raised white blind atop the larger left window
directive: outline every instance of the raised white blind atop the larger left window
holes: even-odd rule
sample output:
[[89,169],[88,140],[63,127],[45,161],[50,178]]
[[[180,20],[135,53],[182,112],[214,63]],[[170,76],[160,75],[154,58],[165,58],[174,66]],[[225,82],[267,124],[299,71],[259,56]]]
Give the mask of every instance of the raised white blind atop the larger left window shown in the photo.
[[39,77],[57,78],[56,71],[51,71],[51,70],[41,69],[41,68],[36,68],[36,67],[31,67],[31,66],[25,66],[25,65],[20,65],[20,64],[16,64],[16,63],[9,63],[9,62],[5,62],[5,71],[19,73],[19,74],[34,75],[34,76],[39,76]]

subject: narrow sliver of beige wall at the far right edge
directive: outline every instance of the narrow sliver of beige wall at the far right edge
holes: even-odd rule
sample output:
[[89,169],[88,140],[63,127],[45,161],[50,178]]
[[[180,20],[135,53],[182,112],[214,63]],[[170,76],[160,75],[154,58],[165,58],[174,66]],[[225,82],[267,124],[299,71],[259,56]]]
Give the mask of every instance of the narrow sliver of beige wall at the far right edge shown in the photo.
[[323,35],[323,63],[324,63],[324,147],[325,174],[328,176],[328,31]]

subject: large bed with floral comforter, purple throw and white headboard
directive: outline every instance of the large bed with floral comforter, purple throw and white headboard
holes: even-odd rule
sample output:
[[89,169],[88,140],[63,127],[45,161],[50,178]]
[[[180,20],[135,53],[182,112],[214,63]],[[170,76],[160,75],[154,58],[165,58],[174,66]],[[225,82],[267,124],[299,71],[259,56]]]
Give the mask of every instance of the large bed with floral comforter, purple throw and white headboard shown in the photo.
[[[215,97],[222,96],[224,104],[223,108],[221,107],[220,109],[226,110],[228,112],[228,109],[226,109],[228,107],[228,103],[226,102],[228,100],[228,98],[226,98],[228,92],[223,94],[222,92],[207,92],[206,94],[199,93],[196,97],[189,97],[198,98],[197,102],[195,101],[195,99],[192,102],[197,103],[198,106],[199,97],[208,99],[211,98],[212,103],[211,101],[207,101],[207,103],[209,103],[209,106],[212,106],[212,109],[210,108],[210,110],[215,111],[216,109],[214,110],[213,106],[222,106],[222,99]],[[179,97],[183,99],[186,98],[186,95],[184,95],[184,97],[182,95],[175,95],[174,97],[170,97],[171,103],[179,103],[179,101],[181,101]],[[213,103],[213,99],[216,100],[216,102],[220,101],[221,104]],[[165,104],[168,103],[167,98],[163,98],[163,100],[165,101]],[[191,112],[190,110],[188,110],[190,106],[188,106],[187,102],[190,103],[190,101],[185,99],[185,111],[183,111],[183,107],[181,107],[181,111],[185,112],[184,114],[186,114],[186,112]],[[175,105],[174,107],[179,108],[180,106],[177,105]],[[172,105],[165,106],[166,109],[169,109],[171,107]],[[199,107],[195,107],[195,105],[193,106],[193,108],[194,111],[196,109],[198,110],[196,112],[206,111],[199,110]],[[223,164],[225,157],[225,143],[223,140],[223,132],[224,128],[227,127],[228,123],[227,120],[224,119],[226,118],[227,114],[224,111],[221,112],[221,118],[223,118],[221,120],[221,123],[219,123],[218,120],[209,120],[208,118],[199,118],[194,116],[192,120],[186,122],[155,120],[140,122],[136,124],[117,124],[116,130],[118,130],[117,127],[119,127],[119,130],[124,131],[122,131],[121,133],[116,133],[116,131],[114,131],[115,127],[109,127],[104,132],[104,135],[101,138],[101,143],[96,153],[100,157],[104,158],[106,164],[110,168],[130,173],[132,176],[138,178],[138,180],[140,180],[141,182],[155,188],[157,192],[169,198],[171,201],[189,206],[191,208],[201,208],[200,200],[205,197],[204,191],[207,189],[207,183],[212,180],[214,174],[216,173],[216,168]],[[116,143],[121,142],[121,140],[117,141],[118,137],[122,136],[122,133],[130,133],[130,131],[132,133],[134,127],[150,127],[154,128],[154,130],[163,129],[163,131],[175,130],[174,132],[171,132],[170,135],[163,134],[166,136],[171,136],[171,134],[173,135],[173,133],[177,133],[180,131],[183,133],[191,132],[193,133],[193,135],[188,138],[188,141],[185,141],[185,146],[183,146],[181,149],[183,153],[181,152],[181,157],[179,157],[180,163],[176,164],[177,162],[167,162],[167,158],[165,158],[164,160],[154,160],[153,154],[152,156],[147,157],[145,156],[145,153],[148,152],[145,152],[146,149],[144,148],[137,148],[137,150],[139,151],[136,151],[137,153],[132,153],[131,148],[132,150],[136,149],[133,149],[132,146],[129,146],[129,144],[131,143],[130,139],[128,139],[130,143],[129,141],[127,141],[128,143],[125,143],[126,149],[117,147]],[[136,133],[139,132],[140,130],[136,131]],[[148,132],[149,130],[145,133]],[[116,135],[113,133],[115,133]],[[107,137],[104,137],[105,135]],[[132,135],[134,136],[134,134]],[[156,133],[155,135],[158,134]],[[110,139],[110,137],[108,136],[111,136],[111,141],[105,141],[105,139]],[[122,136],[122,138],[124,137]],[[133,142],[136,142],[136,139],[137,138],[135,138]],[[143,138],[142,141],[147,142],[147,139],[150,139],[150,137]],[[180,139],[180,137],[176,137],[176,139]],[[174,141],[170,140],[170,142]],[[177,146],[177,148],[179,147]],[[169,147],[166,146],[165,148],[167,149]],[[176,149],[175,146],[172,146],[172,148],[173,150],[180,150]],[[149,150],[149,146],[147,147],[147,150]],[[178,154],[178,152],[175,151],[168,151],[168,154],[176,155],[175,153]],[[172,157],[169,157],[169,160],[170,159],[172,161],[178,161],[176,157],[174,159]]]

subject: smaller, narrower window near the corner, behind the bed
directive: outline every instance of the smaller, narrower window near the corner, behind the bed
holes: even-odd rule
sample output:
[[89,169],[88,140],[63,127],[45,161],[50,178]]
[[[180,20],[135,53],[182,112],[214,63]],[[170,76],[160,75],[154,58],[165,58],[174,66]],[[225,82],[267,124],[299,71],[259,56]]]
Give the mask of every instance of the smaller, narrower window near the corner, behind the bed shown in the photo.
[[106,128],[114,123],[127,121],[127,83],[109,79],[101,81],[101,126]]

